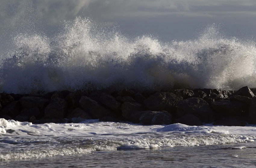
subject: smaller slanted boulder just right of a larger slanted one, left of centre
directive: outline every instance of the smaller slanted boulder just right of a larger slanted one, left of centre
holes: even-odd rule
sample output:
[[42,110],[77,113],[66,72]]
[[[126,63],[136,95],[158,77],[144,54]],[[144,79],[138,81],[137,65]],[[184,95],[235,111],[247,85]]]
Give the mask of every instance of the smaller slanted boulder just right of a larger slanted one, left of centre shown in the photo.
[[99,102],[111,110],[114,110],[116,113],[120,113],[121,111],[121,104],[111,95],[102,93]]

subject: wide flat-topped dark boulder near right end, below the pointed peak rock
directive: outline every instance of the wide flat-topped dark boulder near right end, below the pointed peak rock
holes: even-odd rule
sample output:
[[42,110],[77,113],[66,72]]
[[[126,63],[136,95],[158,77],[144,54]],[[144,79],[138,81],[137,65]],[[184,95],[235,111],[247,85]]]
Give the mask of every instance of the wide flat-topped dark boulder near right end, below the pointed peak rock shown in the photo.
[[211,104],[217,118],[248,116],[248,105],[238,101],[215,101]]

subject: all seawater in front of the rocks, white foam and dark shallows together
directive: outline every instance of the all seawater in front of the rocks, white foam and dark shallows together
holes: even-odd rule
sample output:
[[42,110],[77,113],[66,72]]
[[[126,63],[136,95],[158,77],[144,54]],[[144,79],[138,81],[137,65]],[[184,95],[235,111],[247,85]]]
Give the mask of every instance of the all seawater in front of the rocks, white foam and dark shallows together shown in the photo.
[[255,167],[256,127],[0,119],[1,167]]

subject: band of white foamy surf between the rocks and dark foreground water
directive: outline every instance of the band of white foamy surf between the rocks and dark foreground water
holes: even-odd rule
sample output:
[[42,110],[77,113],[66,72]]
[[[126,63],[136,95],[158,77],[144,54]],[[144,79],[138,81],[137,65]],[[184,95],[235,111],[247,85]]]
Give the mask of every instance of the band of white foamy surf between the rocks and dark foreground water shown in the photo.
[[[94,151],[254,143],[256,127],[142,126],[86,120],[38,124],[0,119],[0,160],[45,158]],[[243,149],[245,145],[236,146]]]

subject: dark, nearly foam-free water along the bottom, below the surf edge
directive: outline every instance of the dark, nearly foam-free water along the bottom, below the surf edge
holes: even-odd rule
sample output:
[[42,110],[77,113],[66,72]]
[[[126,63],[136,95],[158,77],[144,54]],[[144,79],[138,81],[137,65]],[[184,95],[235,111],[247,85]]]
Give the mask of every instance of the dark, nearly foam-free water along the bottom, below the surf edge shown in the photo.
[[[245,146],[243,149],[234,149]],[[237,156],[237,157],[236,157]],[[162,147],[117,150],[55,156],[50,158],[1,161],[0,167],[255,167],[255,143],[216,146]]]

